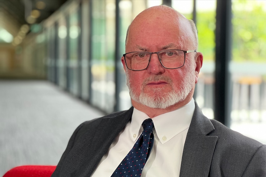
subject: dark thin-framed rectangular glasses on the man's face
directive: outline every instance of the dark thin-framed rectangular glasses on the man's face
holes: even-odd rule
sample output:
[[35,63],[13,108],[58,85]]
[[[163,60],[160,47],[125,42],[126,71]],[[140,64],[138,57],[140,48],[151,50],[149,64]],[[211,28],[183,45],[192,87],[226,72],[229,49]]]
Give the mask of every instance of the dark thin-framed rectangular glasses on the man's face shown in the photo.
[[123,54],[127,68],[130,70],[145,70],[152,54],[157,54],[162,66],[167,69],[176,69],[184,66],[187,53],[196,50],[162,50],[159,52],[129,52]]

